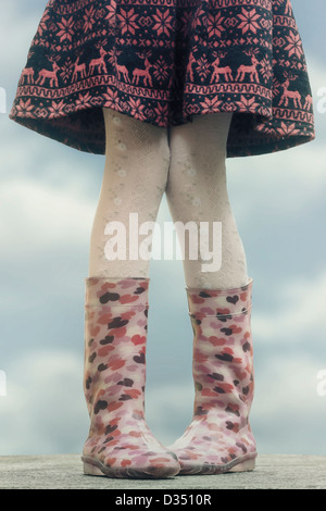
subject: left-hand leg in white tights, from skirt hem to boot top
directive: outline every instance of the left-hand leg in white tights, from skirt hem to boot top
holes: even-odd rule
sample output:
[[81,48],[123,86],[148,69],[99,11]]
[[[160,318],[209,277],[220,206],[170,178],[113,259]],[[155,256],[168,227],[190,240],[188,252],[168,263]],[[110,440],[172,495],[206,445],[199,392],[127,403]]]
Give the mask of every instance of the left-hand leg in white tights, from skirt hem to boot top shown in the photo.
[[[103,113],[106,158],[91,232],[89,275],[148,277],[150,261],[129,259],[129,213],[138,214],[138,225],[156,220],[168,174],[167,130],[111,109]],[[109,222],[125,226],[125,260],[110,260],[108,241],[114,233],[104,234]],[[139,236],[139,244],[145,237]]]

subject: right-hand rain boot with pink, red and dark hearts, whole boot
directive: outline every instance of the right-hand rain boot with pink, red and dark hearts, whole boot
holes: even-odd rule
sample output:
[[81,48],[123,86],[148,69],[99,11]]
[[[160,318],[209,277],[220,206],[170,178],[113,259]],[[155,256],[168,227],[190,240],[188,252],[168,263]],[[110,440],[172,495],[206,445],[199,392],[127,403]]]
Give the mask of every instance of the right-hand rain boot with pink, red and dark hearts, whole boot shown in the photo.
[[253,398],[252,279],[237,289],[189,289],[193,329],[195,409],[191,424],[170,449],[180,475],[251,471],[255,441],[249,424]]

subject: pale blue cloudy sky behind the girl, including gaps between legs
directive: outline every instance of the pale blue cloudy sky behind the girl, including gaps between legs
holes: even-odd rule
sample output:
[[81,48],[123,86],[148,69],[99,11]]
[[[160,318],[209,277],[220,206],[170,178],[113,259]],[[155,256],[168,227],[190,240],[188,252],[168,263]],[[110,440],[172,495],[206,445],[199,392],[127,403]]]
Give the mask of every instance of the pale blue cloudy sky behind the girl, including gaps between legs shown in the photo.
[[[0,4],[0,456],[78,453],[84,279],[103,157],[80,153],[8,117],[43,12]],[[316,140],[229,159],[228,190],[253,278],[255,397],[261,453],[326,456],[326,65],[324,0],[293,0],[314,99]],[[323,91],[323,88],[325,90]],[[171,222],[165,196],[158,223]],[[172,444],[191,420],[192,329],[183,262],[151,261],[147,420]],[[323,379],[324,378],[324,379]]]

